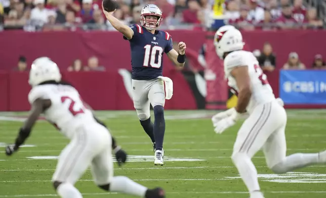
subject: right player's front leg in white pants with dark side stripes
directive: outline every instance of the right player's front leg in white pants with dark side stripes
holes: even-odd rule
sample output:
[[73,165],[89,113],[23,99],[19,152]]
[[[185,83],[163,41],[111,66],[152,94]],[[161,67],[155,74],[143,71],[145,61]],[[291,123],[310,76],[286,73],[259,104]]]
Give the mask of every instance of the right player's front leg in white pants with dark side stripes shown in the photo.
[[272,104],[257,106],[249,118],[243,122],[233,146],[232,161],[246,184],[251,197],[264,197],[260,192],[258,174],[252,157],[262,148],[273,131]]

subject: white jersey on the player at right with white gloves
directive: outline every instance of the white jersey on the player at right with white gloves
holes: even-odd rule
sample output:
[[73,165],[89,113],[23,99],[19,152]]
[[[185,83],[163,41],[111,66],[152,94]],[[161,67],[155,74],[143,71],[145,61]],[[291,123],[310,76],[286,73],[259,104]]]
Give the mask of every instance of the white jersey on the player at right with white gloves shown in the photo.
[[239,89],[236,85],[235,78],[230,72],[235,67],[241,66],[248,66],[252,95],[246,110],[251,114],[257,105],[271,102],[275,100],[275,96],[256,57],[248,51],[234,51],[224,59],[224,72],[228,79],[228,85],[235,91],[235,94],[237,94]]

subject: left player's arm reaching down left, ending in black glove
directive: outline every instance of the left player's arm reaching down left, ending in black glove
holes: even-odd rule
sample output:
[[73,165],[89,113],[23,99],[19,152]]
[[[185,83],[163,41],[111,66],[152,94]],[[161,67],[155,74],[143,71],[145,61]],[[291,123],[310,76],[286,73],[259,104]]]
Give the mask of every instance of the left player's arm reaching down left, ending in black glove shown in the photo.
[[16,138],[14,145],[8,145],[6,147],[6,155],[10,156],[15,151],[19,149],[19,146],[22,145],[27,137],[30,134],[30,131],[32,127],[34,126],[35,122],[37,121],[38,117],[42,112],[46,109],[48,109],[51,106],[50,100],[43,100],[40,98],[37,98],[32,103],[32,108],[30,110],[30,113],[28,115],[27,120],[25,121],[24,125],[20,128],[18,136]]

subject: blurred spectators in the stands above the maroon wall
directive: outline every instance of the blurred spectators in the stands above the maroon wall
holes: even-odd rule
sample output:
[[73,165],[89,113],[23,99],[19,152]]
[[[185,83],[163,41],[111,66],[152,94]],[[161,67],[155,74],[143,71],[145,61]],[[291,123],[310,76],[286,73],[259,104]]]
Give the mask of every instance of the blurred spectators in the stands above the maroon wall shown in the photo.
[[[163,28],[209,26],[214,8],[222,7],[225,23],[240,29],[323,27],[317,10],[302,0],[117,0],[114,16],[125,24],[140,23],[146,4],[163,11]],[[0,22],[5,29],[112,30],[101,11],[101,0],[0,0]]]

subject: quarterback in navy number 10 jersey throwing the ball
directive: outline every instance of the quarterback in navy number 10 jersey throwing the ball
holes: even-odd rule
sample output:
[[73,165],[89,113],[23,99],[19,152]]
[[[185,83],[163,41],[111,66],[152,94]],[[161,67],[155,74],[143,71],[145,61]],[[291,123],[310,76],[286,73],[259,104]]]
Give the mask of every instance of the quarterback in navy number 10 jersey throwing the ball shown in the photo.
[[[102,10],[111,25],[130,42],[134,108],[143,129],[153,143],[154,165],[162,166],[164,105],[165,100],[169,100],[173,94],[172,80],[162,76],[162,56],[166,53],[177,67],[183,67],[186,44],[179,42],[177,52],[173,49],[171,35],[166,31],[157,30],[162,21],[162,12],[156,5],[143,7],[140,14],[141,25],[124,25],[112,16],[114,11],[107,12],[103,8]],[[150,121],[150,104],[154,110],[154,124]]]

